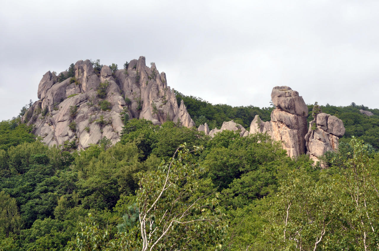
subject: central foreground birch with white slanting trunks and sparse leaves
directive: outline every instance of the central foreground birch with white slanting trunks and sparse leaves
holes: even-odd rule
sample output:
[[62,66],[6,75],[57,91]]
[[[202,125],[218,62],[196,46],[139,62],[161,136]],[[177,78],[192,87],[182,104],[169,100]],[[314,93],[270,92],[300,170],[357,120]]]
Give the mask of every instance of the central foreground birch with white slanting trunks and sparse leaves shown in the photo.
[[169,164],[139,175],[141,250],[199,250],[220,244],[225,229],[216,208],[218,194],[201,191],[204,173],[182,145]]

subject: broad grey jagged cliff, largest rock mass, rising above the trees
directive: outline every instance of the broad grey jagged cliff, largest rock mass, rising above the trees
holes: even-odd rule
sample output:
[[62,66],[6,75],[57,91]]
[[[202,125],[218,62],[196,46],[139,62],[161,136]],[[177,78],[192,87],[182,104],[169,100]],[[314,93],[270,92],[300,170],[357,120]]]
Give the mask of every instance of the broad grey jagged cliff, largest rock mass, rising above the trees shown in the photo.
[[89,60],[79,60],[75,78],[62,82],[48,71],[39,83],[38,98],[23,119],[35,125],[33,133],[49,146],[76,140],[79,148],[86,148],[105,136],[114,144],[127,118],[194,126],[185,105],[178,106],[167,86],[166,74],[154,63],[147,67],[145,57],[114,73],[106,65],[96,73]]

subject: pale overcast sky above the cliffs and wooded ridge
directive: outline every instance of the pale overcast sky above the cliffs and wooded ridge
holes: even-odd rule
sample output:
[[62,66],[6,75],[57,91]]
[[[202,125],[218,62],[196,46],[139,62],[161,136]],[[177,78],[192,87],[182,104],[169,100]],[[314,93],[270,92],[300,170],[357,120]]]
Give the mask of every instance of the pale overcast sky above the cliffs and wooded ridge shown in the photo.
[[8,1],[0,8],[0,120],[36,101],[47,71],[146,57],[168,85],[213,104],[379,108],[379,1]]

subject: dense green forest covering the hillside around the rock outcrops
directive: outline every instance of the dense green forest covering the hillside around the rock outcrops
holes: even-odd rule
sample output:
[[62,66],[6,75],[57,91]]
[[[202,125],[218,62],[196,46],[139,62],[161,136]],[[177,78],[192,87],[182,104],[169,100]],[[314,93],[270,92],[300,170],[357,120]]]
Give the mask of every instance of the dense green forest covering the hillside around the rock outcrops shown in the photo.
[[[197,126],[249,129],[273,110],[176,95]],[[378,249],[379,110],[321,109],[346,128],[325,169],[262,134],[210,138],[131,119],[116,145],[76,150],[45,146],[20,118],[2,121],[0,250]]]

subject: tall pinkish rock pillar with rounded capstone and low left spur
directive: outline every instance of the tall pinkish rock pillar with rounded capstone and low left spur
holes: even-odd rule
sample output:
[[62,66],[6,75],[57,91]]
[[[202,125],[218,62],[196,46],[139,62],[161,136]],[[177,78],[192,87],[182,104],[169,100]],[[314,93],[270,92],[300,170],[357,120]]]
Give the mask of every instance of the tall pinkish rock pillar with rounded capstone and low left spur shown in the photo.
[[271,113],[271,121],[263,122],[256,115],[249,133],[268,133],[273,140],[282,141],[291,157],[305,153],[308,107],[303,98],[288,86],[276,86],[271,99],[276,107]]

